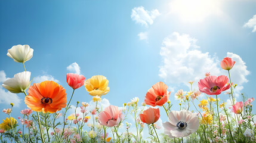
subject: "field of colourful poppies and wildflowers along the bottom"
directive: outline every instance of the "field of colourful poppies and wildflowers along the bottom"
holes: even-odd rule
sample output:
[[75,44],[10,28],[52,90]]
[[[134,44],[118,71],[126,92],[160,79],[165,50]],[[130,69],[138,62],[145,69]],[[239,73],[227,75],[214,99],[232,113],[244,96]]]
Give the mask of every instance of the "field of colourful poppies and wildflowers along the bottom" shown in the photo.
[[[256,142],[251,104],[254,98],[235,100],[237,85],[232,83],[230,70],[236,61],[232,58],[226,57],[220,63],[229,77],[205,73],[205,78],[198,83],[189,82],[189,92],[178,90],[175,99],[180,101],[180,110],[174,111],[169,101],[171,92],[164,82],[155,83],[145,91],[143,108],[139,108],[137,97],[123,107],[102,108],[98,104],[101,96],[109,92],[106,77],[97,75],[85,80],[83,75],[67,73],[67,84],[73,89],[72,95],[67,96],[66,89],[54,81],[30,85],[31,73],[24,64],[33,56],[29,45],[13,46],[7,55],[22,63],[24,71],[7,79],[2,86],[10,92],[23,93],[28,108],[20,111],[18,119],[11,117],[13,103],[2,110],[7,117],[0,124],[1,142]],[[193,84],[198,84],[199,89],[193,90]],[[88,111],[90,105],[78,101],[75,113],[67,114],[72,110],[70,101],[75,90],[82,86],[92,96],[95,107]],[[201,94],[204,99],[200,101]],[[220,94],[229,95],[232,106],[228,107]],[[156,122],[161,116],[159,108],[164,108],[168,116],[168,122],[162,123],[164,132],[160,134],[156,132],[159,128]],[[128,117],[134,119],[134,125],[127,122]],[[88,123],[89,120],[92,122]],[[124,132],[120,132],[121,126],[125,126]],[[135,132],[129,130],[131,126]],[[148,130],[148,138],[143,138],[143,130]]]

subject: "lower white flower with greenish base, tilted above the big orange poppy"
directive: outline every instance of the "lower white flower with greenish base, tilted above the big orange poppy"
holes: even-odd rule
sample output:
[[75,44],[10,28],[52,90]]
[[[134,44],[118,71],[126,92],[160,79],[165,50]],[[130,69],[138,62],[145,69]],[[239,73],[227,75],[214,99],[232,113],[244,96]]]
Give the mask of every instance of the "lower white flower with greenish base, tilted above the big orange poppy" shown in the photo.
[[18,94],[25,91],[30,86],[30,71],[17,73],[13,78],[7,79],[2,83],[2,86],[10,92]]

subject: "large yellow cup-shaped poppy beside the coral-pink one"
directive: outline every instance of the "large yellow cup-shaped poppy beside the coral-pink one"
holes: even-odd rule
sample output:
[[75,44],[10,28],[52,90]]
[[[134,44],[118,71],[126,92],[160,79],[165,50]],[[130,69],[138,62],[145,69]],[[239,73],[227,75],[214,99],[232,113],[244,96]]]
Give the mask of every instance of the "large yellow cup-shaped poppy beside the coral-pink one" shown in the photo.
[[109,80],[104,76],[92,76],[91,79],[85,80],[85,89],[92,96],[102,96],[106,95],[109,92]]

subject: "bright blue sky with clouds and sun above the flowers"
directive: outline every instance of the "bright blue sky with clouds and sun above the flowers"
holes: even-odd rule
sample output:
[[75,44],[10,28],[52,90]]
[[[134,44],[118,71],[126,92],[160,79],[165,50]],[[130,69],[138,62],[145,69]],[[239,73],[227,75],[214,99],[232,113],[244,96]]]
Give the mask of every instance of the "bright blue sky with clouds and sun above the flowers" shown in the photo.
[[[14,45],[27,44],[34,49],[25,63],[33,81],[58,81],[68,99],[72,89],[66,73],[72,70],[67,67],[77,63],[87,79],[98,74],[107,77],[110,92],[103,98],[110,104],[122,106],[134,97],[141,103],[147,90],[162,81],[172,91],[170,100],[178,110],[175,92],[189,91],[187,82],[198,82],[208,71],[227,75],[220,61],[229,56],[237,60],[231,71],[239,85],[237,93],[254,97],[255,5],[250,0],[1,1],[0,71],[5,73],[1,78],[24,70],[6,54]],[[10,99],[3,97],[7,94],[1,88],[1,110],[10,107]],[[227,100],[227,95],[220,97]],[[82,86],[71,104],[91,98]],[[13,116],[18,117],[26,108],[24,95],[12,95],[11,100],[17,102]],[[164,115],[161,118],[166,120]]]

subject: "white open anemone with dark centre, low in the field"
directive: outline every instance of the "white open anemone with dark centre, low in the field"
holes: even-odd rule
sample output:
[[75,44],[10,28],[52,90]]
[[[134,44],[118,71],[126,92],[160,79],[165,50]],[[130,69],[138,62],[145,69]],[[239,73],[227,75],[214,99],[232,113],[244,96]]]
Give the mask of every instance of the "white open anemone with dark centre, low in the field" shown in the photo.
[[164,133],[170,138],[189,136],[199,128],[199,119],[196,113],[187,110],[171,111],[168,121],[163,123]]

